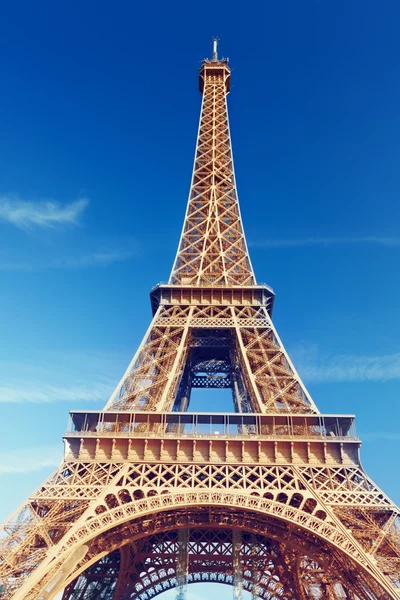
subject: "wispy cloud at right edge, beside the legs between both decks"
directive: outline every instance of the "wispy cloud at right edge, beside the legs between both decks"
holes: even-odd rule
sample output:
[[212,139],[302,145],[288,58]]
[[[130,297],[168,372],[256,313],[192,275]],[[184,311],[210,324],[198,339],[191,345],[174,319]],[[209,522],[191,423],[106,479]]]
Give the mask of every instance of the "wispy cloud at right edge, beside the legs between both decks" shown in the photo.
[[324,356],[313,344],[297,346],[291,352],[306,382],[389,381],[400,379],[400,353],[382,356]]

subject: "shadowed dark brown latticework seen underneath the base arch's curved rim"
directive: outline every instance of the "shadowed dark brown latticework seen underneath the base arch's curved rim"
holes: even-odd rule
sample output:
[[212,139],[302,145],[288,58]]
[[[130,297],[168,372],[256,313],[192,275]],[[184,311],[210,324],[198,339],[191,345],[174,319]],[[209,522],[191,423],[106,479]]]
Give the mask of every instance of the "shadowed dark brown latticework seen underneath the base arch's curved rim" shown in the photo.
[[[124,545],[71,582],[63,599],[94,600],[102,597],[105,585],[116,600],[147,600],[167,589],[179,588],[177,568],[182,531],[187,534],[188,584],[235,585],[239,570],[241,588],[254,598],[266,600],[309,597],[369,600],[371,591],[379,593],[373,583],[323,546],[309,544],[306,550],[302,544],[296,546],[290,536],[285,539],[285,534],[277,540],[268,534],[215,529],[211,525],[207,529],[160,532]],[[240,540],[235,548],[239,564],[234,560],[233,539]],[[105,571],[106,581],[98,576],[100,569]],[[113,579],[110,573],[114,574]]]

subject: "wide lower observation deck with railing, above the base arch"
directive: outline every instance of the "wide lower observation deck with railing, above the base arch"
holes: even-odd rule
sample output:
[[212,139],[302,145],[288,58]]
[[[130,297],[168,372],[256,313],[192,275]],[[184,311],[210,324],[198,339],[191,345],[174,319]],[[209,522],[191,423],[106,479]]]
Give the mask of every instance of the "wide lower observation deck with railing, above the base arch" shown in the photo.
[[66,460],[359,465],[354,415],[73,411]]

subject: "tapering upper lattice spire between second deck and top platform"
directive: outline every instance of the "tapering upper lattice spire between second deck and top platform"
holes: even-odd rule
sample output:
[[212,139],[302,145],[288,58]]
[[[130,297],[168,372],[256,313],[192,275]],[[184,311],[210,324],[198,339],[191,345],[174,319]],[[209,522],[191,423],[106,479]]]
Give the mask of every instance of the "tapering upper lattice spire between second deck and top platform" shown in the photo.
[[205,69],[203,105],[188,207],[170,283],[253,285],[226,104],[228,67]]

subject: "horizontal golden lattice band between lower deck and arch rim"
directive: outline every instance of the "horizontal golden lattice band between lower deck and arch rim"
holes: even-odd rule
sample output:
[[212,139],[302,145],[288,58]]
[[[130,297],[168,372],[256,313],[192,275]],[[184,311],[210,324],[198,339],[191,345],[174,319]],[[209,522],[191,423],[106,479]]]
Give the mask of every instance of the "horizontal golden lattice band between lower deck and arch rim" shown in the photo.
[[[85,500],[101,495],[111,485],[127,486],[141,496],[151,490],[221,489],[244,491],[253,497],[276,498],[281,491],[313,490],[329,506],[393,509],[389,498],[360,467],[311,467],[235,464],[67,462],[32,495],[34,501]],[[152,492],[153,494],[153,492]],[[135,496],[133,496],[135,497]],[[303,499],[305,497],[303,496]],[[282,498],[281,498],[282,501]],[[314,503],[314,507],[316,504]],[[21,518],[24,518],[22,513]],[[26,524],[26,521],[24,521]]]

